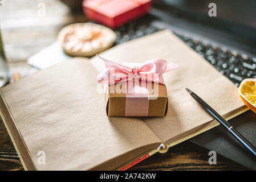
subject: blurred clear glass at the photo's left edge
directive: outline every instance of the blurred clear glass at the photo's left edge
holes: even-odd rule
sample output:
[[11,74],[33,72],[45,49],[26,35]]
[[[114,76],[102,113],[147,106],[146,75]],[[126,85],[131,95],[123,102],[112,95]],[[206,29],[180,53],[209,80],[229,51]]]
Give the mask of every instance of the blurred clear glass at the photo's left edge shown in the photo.
[[9,68],[7,65],[7,60],[5,56],[5,51],[3,49],[3,41],[0,30],[0,87],[7,84],[10,80]]

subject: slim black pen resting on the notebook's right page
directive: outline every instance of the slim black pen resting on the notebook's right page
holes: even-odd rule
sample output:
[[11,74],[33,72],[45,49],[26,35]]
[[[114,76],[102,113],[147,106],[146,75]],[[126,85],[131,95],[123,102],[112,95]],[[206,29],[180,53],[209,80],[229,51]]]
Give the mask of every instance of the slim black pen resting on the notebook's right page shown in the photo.
[[200,97],[197,96],[194,92],[186,88],[186,90],[190,93],[190,95],[196,100],[204,109],[212,115],[222,126],[227,129],[240,143],[243,144],[251,153],[253,153],[256,156],[256,148],[245,138],[243,137],[235,128],[227,122],[224,118],[221,117],[220,114],[218,114],[212,107],[210,107],[208,104],[206,104],[205,101],[203,101]]

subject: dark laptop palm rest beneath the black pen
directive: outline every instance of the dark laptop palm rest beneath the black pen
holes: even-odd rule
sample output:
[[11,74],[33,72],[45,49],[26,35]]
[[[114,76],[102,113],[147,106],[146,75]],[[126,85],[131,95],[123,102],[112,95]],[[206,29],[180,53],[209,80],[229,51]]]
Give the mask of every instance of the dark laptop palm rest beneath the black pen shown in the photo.
[[[230,119],[231,125],[235,127],[251,144],[256,146],[256,114],[249,110]],[[256,157],[246,150],[223,126],[219,125],[190,139],[192,142],[216,151],[217,154],[225,156],[243,166],[256,170]],[[218,159],[217,159],[218,163]]]

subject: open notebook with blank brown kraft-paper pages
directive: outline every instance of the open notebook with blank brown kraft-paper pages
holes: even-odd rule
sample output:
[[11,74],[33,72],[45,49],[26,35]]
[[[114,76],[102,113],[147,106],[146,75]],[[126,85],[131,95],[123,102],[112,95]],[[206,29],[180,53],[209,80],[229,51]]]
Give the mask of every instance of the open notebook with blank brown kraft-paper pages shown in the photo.
[[[226,119],[246,111],[237,87],[165,30],[101,54],[116,62],[161,58],[181,65],[164,75],[166,117],[107,117],[96,76],[104,64],[74,58],[1,89],[1,116],[25,169],[121,169],[160,144],[165,150],[217,126],[190,88]],[[44,151],[46,164],[38,163]],[[39,153],[42,154],[42,153]]]

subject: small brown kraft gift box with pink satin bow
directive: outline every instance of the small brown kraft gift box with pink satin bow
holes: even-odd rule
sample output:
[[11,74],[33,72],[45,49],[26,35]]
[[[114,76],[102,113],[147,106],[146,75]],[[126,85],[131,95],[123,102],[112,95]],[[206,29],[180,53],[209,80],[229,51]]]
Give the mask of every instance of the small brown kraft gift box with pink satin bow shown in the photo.
[[108,117],[166,115],[168,97],[163,74],[180,66],[163,59],[117,64],[98,57],[106,67],[97,82],[104,85]]

